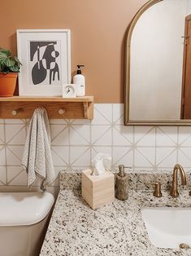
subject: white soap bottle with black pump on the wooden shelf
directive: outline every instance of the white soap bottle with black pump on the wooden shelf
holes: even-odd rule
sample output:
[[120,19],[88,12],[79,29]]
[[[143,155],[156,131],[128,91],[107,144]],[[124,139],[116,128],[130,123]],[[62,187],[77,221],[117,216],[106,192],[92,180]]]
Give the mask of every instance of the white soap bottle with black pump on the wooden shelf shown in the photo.
[[73,83],[76,84],[76,96],[85,96],[85,76],[81,74],[81,67],[84,65],[77,65],[76,75],[73,77]]

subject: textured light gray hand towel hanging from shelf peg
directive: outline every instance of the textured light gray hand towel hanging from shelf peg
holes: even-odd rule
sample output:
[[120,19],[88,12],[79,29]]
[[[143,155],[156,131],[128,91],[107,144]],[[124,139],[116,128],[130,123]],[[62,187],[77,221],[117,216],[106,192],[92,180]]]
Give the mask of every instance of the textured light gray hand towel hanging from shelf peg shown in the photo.
[[28,173],[28,187],[37,176],[41,189],[54,180],[54,166],[50,152],[50,125],[45,108],[37,108],[31,118],[21,165]]

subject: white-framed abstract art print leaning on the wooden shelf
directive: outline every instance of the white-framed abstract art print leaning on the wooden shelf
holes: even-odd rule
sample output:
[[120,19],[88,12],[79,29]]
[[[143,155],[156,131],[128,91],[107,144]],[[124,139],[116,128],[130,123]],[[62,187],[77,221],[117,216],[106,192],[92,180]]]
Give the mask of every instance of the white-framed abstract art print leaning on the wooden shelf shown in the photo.
[[17,29],[19,95],[62,96],[71,82],[70,29]]

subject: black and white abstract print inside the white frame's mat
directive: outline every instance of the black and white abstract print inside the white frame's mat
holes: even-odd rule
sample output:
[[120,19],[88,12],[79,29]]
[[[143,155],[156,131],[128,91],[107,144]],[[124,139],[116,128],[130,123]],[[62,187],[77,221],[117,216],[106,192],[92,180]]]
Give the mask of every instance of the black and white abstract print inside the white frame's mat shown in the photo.
[[60,84],[60,44],[56,41],[30,42],[29,80],[33,85]]

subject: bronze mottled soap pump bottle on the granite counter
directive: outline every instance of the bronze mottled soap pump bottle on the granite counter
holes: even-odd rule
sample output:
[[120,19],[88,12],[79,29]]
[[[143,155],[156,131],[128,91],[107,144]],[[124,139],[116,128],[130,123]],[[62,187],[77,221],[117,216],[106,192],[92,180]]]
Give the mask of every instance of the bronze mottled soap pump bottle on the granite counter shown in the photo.
[[115,196],[121,201],[128,199],[128,174],[124,173],[125,168],[131,167],[119,165],[119,173],[116,174]]

